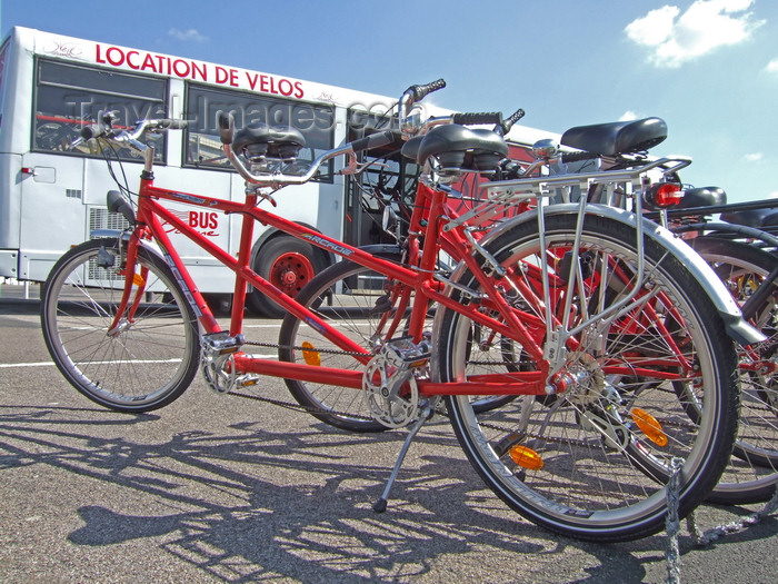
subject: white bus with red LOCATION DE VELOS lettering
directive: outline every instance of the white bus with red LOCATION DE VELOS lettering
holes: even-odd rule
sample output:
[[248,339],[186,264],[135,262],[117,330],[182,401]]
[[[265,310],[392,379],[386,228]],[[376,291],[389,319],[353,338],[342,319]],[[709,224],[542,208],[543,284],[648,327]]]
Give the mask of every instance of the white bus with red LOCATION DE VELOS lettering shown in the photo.
[[[119,126],[143,117],[189,120],[187,130],[159,138],[158,184],[240,199],[243,181],[220,148],[219,110],[233,111],[238,127],[265,121],[298,128],[308,143],[300,154],[306,160],[359,138],[367,122],[391,103],[278,75],[13,28],[0,47],[0,277],[43,281],[53,263],[93,229],[124,227],[123,218],[106,208],[106,192],[116,186],[101,155],[70,148],[81,128],[106,112],[114,112]],[[140,167],[129,155],[119,156],[133,189]],[[335,174],[341,160],[330,164],[328,177],[277,194],[276,211],[350,244],[379,242],[377,209],[361,197],[357,180]],[[418,169],[397,157],[390,170],[399,185],[408,186]],[[237,249],[238,219],[186,206],[180,214],[219,245]],[[226,268],[183,236],[176,245],[202,291],[231,291]],[[262,226],[253,258],[259,274],[292,296],[333,260]],[[257,293],[249,295],[248,305],[277,314]]]

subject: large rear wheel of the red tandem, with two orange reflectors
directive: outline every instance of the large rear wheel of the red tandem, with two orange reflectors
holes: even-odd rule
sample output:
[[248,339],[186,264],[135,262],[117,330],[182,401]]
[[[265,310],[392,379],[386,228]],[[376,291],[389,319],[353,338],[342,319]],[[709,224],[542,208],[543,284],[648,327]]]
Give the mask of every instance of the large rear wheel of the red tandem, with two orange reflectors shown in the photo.
[[[556,311],[553,337],[569,311],[570,327],[602,315],[625,290],[635,289],[635,230],[607,217],[587,216],[580,256],[566,260],[577,217],[549,215],[546,239],[550,299],[542,290],[535,221],[517,224],[487,250],[508,268],[495,289],[542,321]],[[459,442],[487,485],[511,508],[546,528],[572,537],[619,542],[664,528],[667,479],[674,459],[682,463],[679,514],[691,512],[716,485],[731,452],[737,427],[736,355],[707,293],[681,261],[646,238],[646,284],[632,305],[594,318],[569,343],[542,339],[546,354],[560,349],[559,374],[567,388],[556,395],[522,397],[490,412],[476,412],[471,397],[450,396],[447,406]],[[568,283],[568,276],[573,281]],[[535,279],[533,279],[535,278]],[[479,289],[465,273],[457,283]],[[571,287],[568,287],[571,284]],[[501,285],[501,286],[500,286]],[[459,293],[452,291],[457,298]],[[566,300],[570,300],[570,305]],[[487,299],[482,300],[483,309]],[[533,310],[531,307],[536,307]],[[581,316],[585,315],[585,316]],[[441,380],[509,374],[500,343],[473,343],[471,320],[445,309],[436,323]],[[682,328],[675,335],[681,321]],[[545,327],[537,327],[542,336]],[[699,418],[690,419],[671,382],[688,379]]]

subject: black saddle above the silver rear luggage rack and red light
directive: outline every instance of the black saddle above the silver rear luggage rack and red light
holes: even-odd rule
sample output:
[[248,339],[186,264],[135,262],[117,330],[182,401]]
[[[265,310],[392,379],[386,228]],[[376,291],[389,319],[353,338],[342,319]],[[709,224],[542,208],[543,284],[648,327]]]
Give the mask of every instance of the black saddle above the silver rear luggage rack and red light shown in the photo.
[[639,152],[667,138],[661,118],[577,126],[562,133],[561,143],[600,156]]

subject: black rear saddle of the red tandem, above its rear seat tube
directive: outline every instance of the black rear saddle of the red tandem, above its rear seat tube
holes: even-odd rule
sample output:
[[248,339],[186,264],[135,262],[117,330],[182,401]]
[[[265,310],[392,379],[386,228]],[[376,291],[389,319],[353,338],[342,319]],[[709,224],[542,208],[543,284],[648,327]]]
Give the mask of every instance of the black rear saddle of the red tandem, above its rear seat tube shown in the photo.
[[408,140],[402,154],[420,165],[433,156],[443,170],[493,170],[508,156],[508,145],[491,130],[448,123]]

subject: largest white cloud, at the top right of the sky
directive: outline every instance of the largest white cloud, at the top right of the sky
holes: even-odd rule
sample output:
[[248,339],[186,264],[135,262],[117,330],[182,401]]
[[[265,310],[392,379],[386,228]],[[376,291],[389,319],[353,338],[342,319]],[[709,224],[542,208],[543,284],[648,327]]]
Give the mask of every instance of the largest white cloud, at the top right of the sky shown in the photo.
[[714,49],[745,41],[764,20],[746,12],[755,0],[695,0],[681,13],[664,6],[627,24],[627,37],[650,48],[657,67],[680,67]]

